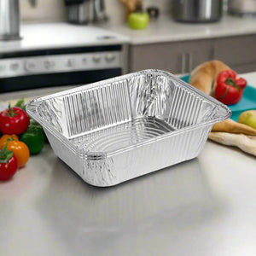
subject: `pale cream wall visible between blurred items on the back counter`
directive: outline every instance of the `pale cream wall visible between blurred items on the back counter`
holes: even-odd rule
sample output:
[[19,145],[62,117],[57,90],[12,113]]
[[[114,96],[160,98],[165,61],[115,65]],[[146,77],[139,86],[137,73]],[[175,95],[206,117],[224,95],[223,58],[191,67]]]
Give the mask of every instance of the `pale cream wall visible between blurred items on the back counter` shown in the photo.
[[[25,22],[54,22],[65,21],[66,8],[63,0],[35,0],[36,7],[33,8],[29,0],[20,0],[20,16]],[[107,13],[114,20],[122,20],[125,9],[119,0],[105,0]],[[172,0],[144,0],[144,7],[149,5],[159,7],[160,13],[170,12]],[[118,18],[118,19],[116,19]]]

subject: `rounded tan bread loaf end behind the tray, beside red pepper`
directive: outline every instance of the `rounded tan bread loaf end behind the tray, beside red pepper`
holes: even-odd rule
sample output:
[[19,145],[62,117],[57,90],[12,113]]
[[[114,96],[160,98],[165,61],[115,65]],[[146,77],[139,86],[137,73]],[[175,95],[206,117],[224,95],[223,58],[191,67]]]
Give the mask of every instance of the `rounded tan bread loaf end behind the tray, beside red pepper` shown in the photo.
[[195,67],[191,72],[189,84],[207,95],[214,95],[218,73],[231,69],[222,61],[207,61]]

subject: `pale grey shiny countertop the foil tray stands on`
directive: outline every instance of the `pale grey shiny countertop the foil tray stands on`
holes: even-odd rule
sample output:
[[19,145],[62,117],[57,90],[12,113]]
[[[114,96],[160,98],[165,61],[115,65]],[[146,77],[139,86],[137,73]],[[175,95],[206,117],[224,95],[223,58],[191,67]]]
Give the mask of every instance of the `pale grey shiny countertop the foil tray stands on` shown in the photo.
[[46,145],[0,183],[0,254],[254,256],[255,160],[207,141],[195,160],[101,189]]

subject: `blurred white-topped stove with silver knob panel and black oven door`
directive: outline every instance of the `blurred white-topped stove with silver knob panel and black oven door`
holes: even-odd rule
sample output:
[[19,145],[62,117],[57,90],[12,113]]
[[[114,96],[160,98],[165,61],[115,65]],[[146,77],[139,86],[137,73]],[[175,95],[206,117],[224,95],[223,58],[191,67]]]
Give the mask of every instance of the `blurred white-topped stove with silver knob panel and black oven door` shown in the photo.
[[22,27],[22,44],[0,42],[0,92],[89,84],[127,73],[125,37],[67,23]]

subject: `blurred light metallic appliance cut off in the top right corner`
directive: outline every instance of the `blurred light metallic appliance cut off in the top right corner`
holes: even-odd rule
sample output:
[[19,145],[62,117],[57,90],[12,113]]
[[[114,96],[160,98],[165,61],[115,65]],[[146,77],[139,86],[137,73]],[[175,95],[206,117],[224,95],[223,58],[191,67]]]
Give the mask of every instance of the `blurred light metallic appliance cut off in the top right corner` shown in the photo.
[[230,0],[228,12],[231,15],[256,15],[255,0]]

